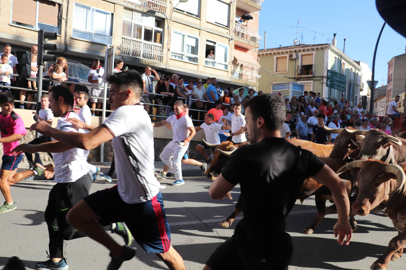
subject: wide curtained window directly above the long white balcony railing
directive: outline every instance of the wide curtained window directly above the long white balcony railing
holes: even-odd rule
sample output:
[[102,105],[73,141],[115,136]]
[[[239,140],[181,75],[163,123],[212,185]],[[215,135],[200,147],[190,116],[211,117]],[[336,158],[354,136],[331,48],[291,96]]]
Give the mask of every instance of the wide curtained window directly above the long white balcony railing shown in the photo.
[[124,9],[123,36],[162,45],[164,21],[154,16]]

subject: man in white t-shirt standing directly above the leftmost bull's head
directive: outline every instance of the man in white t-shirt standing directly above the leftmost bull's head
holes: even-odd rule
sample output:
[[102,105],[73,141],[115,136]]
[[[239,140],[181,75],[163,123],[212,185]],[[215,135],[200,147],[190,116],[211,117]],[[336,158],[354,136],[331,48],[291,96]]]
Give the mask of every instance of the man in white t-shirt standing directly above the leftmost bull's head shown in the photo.
[[246,142],[247,138],[245,137],[245,116],[241,113],[241,103],[234,103],[234,114],[231,116],[231,125],[227,124],[226,119],[222,119],[223,124],[226,125],[226,130],[231,130],[231,133],[224,132],[225,136],[231,136],[231,141],[236,143]]

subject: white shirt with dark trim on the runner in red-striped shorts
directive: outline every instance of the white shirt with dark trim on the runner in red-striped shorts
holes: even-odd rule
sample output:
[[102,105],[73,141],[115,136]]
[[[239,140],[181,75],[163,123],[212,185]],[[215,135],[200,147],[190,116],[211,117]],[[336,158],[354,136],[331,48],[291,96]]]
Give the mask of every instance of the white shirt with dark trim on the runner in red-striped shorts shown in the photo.
[[146,202],[159,193],[154,176],[153,127],[140,105],[117,108],[103,123],[113,133],[117,188],[129,204]]

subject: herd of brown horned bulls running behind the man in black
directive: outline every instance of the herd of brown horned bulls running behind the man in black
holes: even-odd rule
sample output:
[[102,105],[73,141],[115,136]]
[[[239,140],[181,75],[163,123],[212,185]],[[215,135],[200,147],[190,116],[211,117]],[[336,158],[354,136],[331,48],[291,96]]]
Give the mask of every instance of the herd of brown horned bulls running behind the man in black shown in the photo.
[[[372,264],[371,269],[387,269],[390,260],[402,257],[406,244],[406,140],[376,129],[330,129],[326,126],[324,129],[339,133],[334,144],[320,145],[298,139],[291,139],[289,142],[311,151],[346,182],[352,204],[349,218],[354,231],[354,215],[365,216],[371,211],[385,209],[384,213],[392,220],[399,234],[391,239],[387,251]],[[214,180],[228,156],[241,145],[233,145],[229,141],[222,142],[221,145],[206,144],[216,149],[207,170],[207,177]],[[312,195],[315,196],[318,213],[313,224],[304,229],[305,234],[312,234],[327,212],[336,211],[334,204],[326,208],[326,201],[333,200],[330,190],[309,178],[304,181],[298,200],[303,202]],[[219,224],[229,227],[241,212],[239,200],[234,212]]]

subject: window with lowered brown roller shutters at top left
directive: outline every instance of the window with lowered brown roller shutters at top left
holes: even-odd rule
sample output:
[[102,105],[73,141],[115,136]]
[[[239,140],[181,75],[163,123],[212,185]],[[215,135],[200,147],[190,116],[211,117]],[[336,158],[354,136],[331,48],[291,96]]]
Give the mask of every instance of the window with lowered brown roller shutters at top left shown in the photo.
[[13,0],[12,23],[60,34],[59,11],[60,4],[49,0]]

